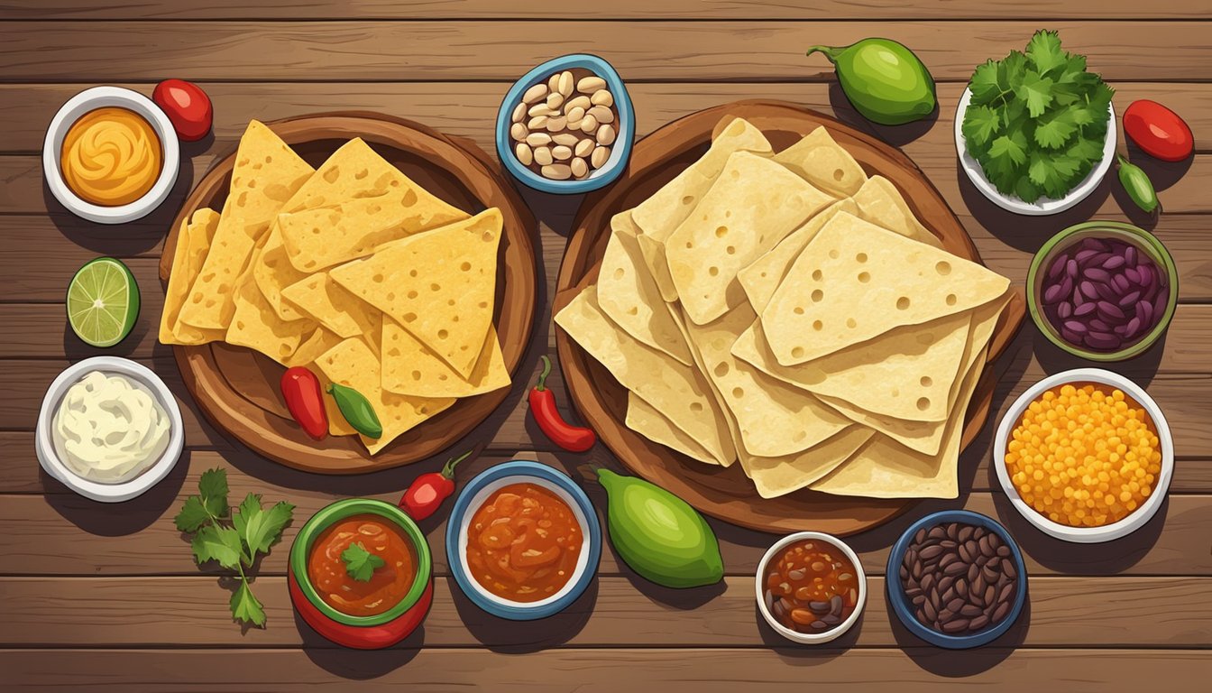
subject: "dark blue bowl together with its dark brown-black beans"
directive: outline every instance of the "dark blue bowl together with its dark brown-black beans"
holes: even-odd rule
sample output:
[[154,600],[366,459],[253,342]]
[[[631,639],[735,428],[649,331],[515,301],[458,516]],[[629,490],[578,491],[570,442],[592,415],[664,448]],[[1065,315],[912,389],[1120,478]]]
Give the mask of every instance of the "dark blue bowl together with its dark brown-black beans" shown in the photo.
[[888,555],[888,604],[926,642],[966,649],[991,642],[1027,603],[1023,553],[1005,527],[966,510],[919,519]]

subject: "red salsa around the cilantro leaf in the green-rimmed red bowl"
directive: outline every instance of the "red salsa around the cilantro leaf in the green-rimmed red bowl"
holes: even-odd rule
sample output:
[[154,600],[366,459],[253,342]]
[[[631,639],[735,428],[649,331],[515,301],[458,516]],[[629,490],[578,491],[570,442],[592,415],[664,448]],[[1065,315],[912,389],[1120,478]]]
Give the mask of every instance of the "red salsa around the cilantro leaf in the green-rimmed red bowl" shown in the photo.
[[[350,545],[383,559],[375,562],[370,580],[356,580],[342,553]],[[389,610],[412,589],[417,555],[412,541],[395,523],[373,513],[347,517],[320,533],[311,545],[307,575],[326,604],[351,617],[373,617]]]

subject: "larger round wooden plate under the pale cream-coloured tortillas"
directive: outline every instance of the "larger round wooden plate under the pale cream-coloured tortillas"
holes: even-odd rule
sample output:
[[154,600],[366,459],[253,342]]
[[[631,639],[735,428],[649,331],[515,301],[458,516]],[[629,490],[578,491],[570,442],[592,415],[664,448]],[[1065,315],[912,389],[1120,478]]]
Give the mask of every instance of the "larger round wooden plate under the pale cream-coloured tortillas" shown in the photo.
[[[943,240],[948,251],[981,262],[955,214],[921,170],[899,150],[828,115],[790,103],[743,101],[687,115],[645,137],[636,143],[628,171],[619,182],[585,198],[560,266],[555,312],[568,305],[581,289],[598,280],[611,216],[647,199],[702,157],[711,143],[713,132],[731,118],[744,118],[758,126],[776,152],[818,126],[827,127],[868,175],[879,174],[901,189],[917,218]],[[1024,314],[1025,301],[1016,291],[997,322],[988,364],[966,413],[965,448],[989,415],[996,380],[991,364],[1018,331]],[[572,401],[602,442],[631,471],[708,515],[764,532],[816,529],[847,535],[882,524],[916,502],[914,499],[834,496],[807,489],[764,499],[745,478],[741,465],[727,468],[704,465],[628,428],[623,422],[627,391],[564,330],[556,330],[556,346]]]

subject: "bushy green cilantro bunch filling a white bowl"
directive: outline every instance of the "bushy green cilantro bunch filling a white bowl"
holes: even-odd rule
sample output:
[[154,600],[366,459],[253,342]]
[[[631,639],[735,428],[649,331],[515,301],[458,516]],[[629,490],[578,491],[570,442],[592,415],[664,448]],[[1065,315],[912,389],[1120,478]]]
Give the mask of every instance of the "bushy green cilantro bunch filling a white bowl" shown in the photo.
[[967,150],[1002,194],[1034,203],[1063,198],[1103,158],[1114,90],[1036,32],[1027,52],[978,66],[961,130]]

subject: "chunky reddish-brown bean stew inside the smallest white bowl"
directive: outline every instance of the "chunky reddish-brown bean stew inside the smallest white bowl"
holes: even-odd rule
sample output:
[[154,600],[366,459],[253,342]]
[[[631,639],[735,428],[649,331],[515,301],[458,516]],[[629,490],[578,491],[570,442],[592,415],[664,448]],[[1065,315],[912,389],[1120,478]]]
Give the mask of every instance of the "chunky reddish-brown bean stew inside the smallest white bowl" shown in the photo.
[[858,604],[854,564],[841,549],[817,539],[789,544],[766,564],[766,608],[799,632],[841,625]]

